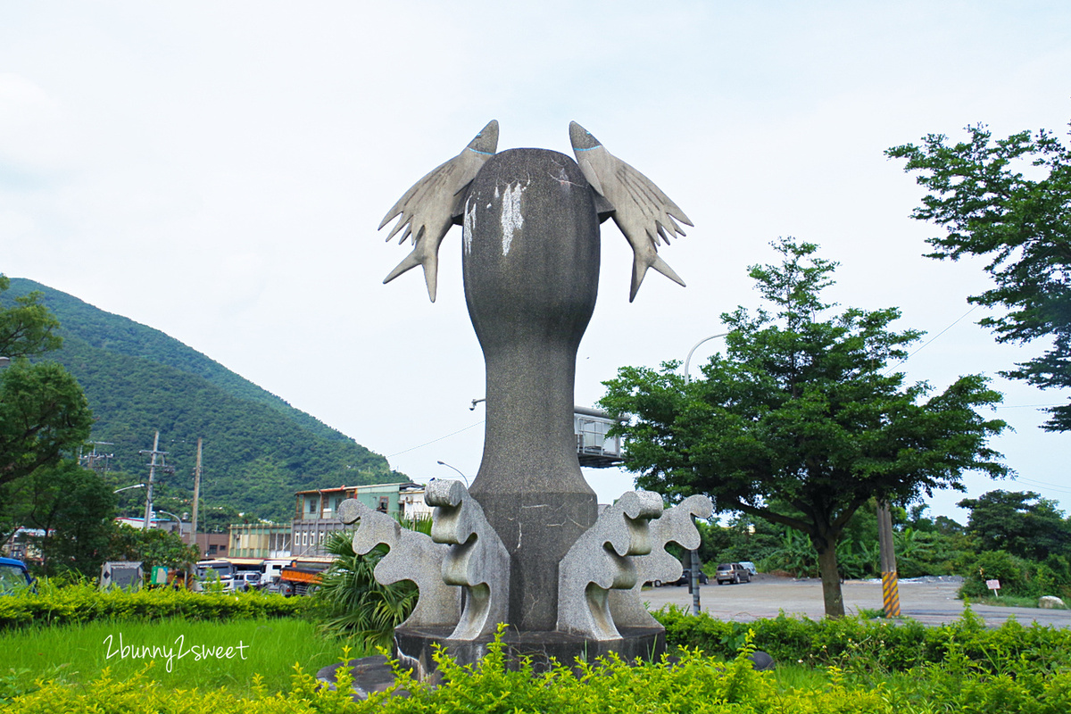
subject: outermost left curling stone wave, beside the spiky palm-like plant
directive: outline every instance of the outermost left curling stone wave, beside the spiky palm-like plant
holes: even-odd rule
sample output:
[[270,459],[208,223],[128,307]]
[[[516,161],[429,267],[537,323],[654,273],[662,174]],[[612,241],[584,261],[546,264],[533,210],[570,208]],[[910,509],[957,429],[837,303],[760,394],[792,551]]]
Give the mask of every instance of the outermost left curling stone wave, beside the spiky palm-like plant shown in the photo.
[[399,580],[412,580],[420,591],[417,607],[405,625],[456,625],[461,617],[461,588],[442,580],[442,563],[449,546],[431,537],[402,528],[384,513],[373,511],[357,499],[346,499],[338,506],[338,519],[358,523],[353,533],[353,551],[363,556],[377,545],[390,552],[376,564],[376,582],[389,586]]

